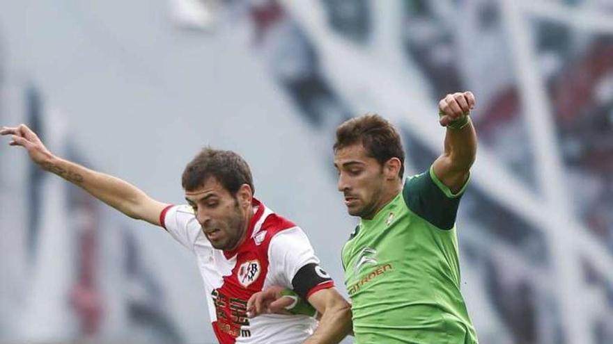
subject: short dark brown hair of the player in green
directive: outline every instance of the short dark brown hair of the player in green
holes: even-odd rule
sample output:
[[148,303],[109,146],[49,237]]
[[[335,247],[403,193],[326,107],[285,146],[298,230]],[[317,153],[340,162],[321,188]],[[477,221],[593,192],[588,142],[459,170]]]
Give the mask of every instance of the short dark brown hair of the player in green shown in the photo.
[[398,177],[405,172],[405,151],[396,128],[377,114],[366,114],[347,120],[336,128],[334,152],[343,147],[362,143],[368,156],[381,165],[391,158],[401,162]]

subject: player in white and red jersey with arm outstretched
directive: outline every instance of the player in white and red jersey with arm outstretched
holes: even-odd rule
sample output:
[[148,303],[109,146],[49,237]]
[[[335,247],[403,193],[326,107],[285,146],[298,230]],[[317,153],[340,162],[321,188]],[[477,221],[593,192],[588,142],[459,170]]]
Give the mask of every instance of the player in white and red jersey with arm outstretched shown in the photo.
[[[11,136],[9,145],[24,147],[43,170],[130,218],[164,227],[194,253],[219,343],[339,343],[350,332],[350,305],[319,267],[307,236],[254,198],[249,165],[233,151],[203,149],[183,172],[189,205],[174,206],[121,179],[54,156],[24,124],[3,127],[0,135]],[[293,289],[307,300],[321,315],[317,327],[307,315],[248,318],[249,297],[269,286]]]

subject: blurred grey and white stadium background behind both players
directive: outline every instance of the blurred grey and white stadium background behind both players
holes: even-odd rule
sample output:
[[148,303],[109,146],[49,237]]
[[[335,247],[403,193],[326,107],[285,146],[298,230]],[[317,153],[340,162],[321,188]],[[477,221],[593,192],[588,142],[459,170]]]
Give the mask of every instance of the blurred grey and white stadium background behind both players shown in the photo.
[[[336,192],[335,126],[388,117],[421,172],[442,150],[437,99],[472,90],[480,147],[458,235],[481,343],[613,343],[611,0],[0,8],[1,124],[174,203],[200,147],[238,151],[343,293],[355,219]],[[0,343],[215,342],[187,251],[8,146],[0,219]]]

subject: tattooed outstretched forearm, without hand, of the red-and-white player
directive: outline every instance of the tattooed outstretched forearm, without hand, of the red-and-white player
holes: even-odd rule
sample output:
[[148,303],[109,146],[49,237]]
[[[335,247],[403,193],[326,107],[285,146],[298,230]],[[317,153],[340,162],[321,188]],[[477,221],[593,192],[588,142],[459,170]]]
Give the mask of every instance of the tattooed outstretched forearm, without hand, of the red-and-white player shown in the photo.
[[83,188],[130,218],[141,219],[137,208],[141,199],[148,196],[130,183],[56,156],[40,163],[40,167]]

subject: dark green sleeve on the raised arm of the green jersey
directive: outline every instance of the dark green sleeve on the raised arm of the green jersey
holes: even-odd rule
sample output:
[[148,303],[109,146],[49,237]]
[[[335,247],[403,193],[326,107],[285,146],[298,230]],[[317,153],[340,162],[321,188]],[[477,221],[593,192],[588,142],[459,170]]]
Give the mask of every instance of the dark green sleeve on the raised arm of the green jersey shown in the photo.
[[468,180],[458,193],[452,193],[436,177],[430,166],[430,170],[405,181],[403,198],[410,211],[430,224],[440,229],[452,229],[456,223],[460,198],[467,185]]

